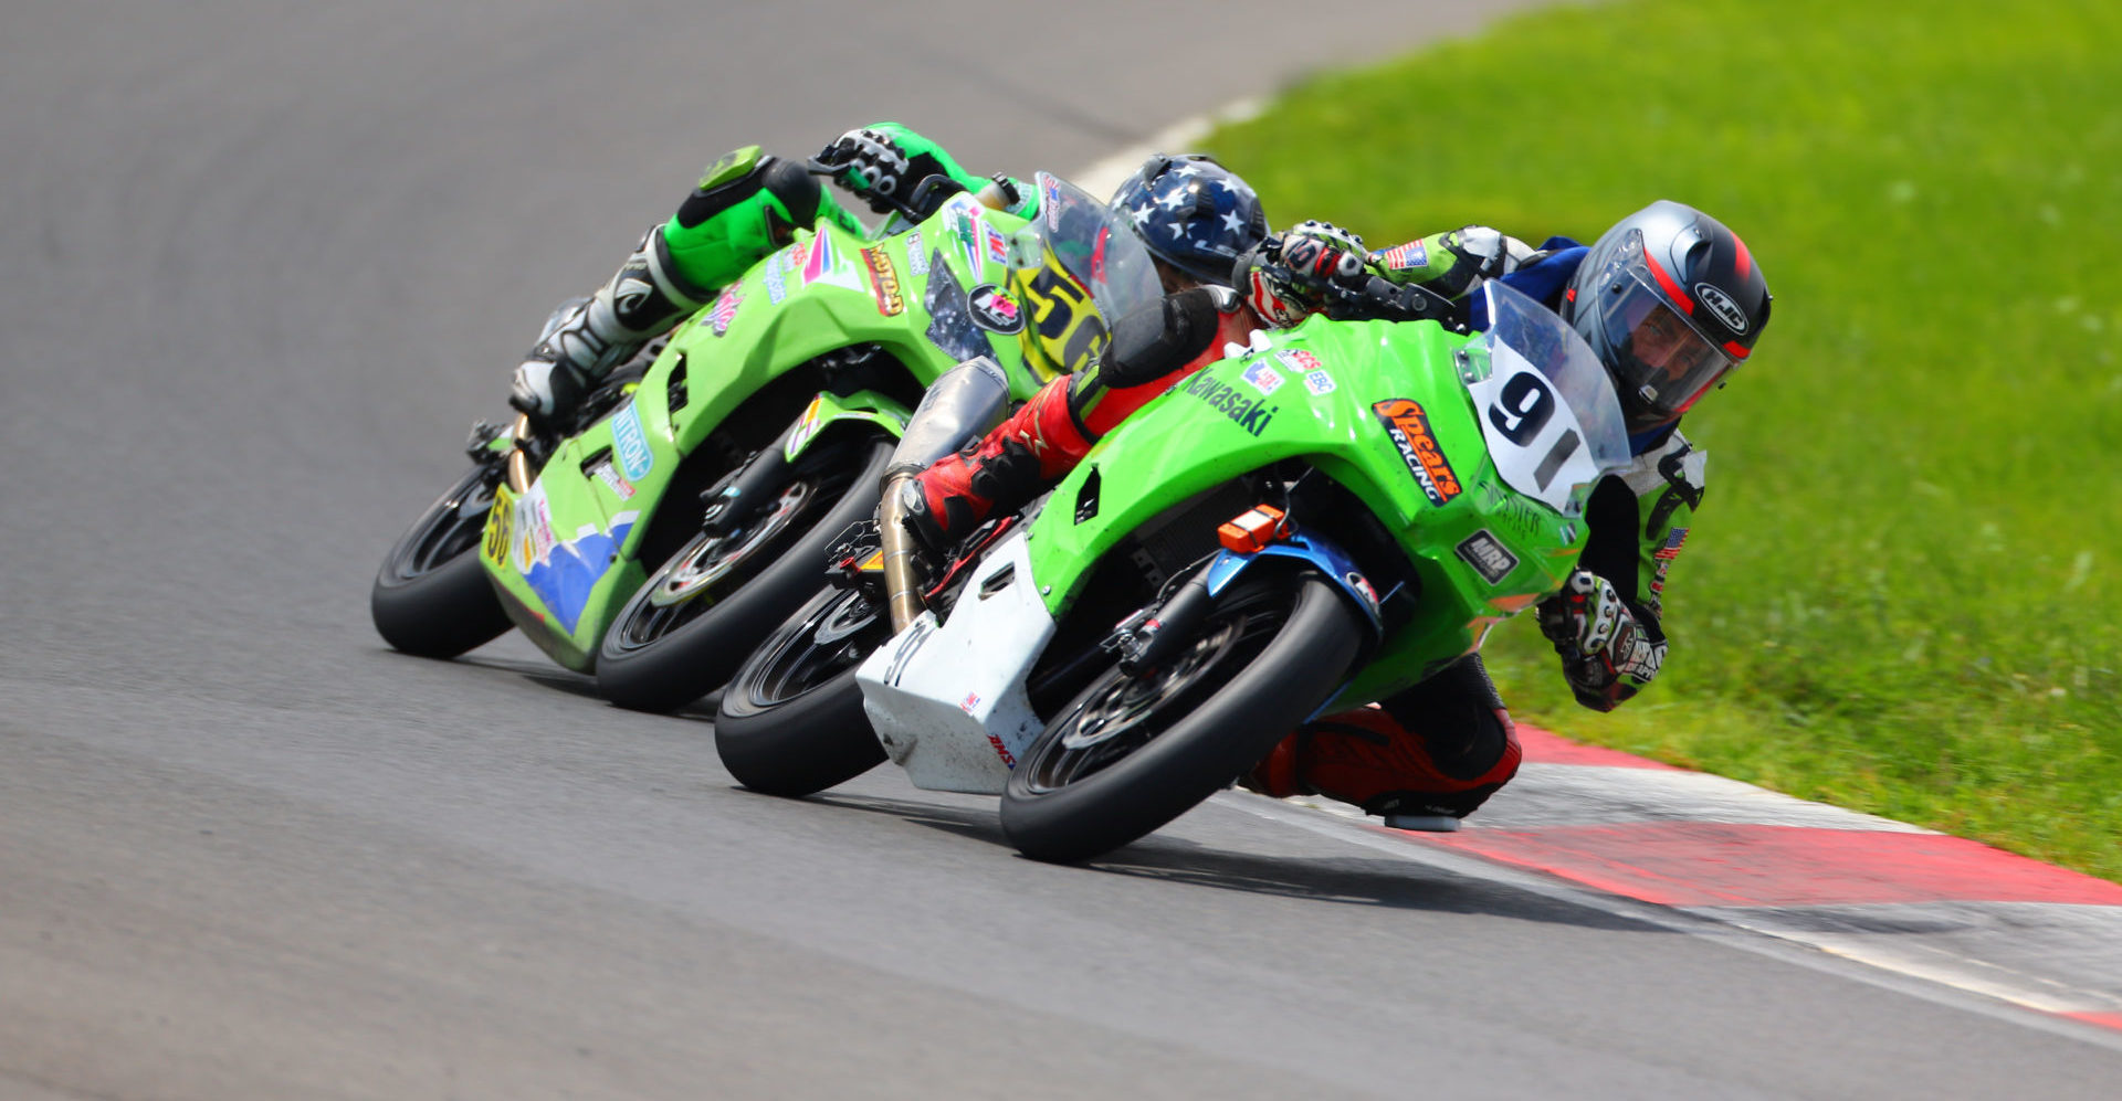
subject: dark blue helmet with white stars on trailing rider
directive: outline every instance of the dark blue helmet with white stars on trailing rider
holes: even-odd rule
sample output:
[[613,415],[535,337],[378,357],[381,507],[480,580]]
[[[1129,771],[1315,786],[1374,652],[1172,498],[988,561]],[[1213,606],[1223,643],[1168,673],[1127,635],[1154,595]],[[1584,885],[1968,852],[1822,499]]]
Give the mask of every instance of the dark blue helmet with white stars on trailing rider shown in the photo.
[[1205,153],[1163,153],[1112,193],[1150,252],[1210,286],[1231,286],[1237,257],[1267,238],[1260,195]]

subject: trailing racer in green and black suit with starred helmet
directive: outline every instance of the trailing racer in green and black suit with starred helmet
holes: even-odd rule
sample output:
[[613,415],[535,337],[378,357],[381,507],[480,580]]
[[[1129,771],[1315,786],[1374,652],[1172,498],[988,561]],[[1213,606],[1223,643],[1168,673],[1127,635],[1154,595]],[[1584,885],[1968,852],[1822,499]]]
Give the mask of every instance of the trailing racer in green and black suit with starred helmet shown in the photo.
[[[887,219],[872,233],[819,187],[828,170],[849,195]],[[753,263],[819,219],[881,238],[927,216],[957,189],[921,193],[946,178],[982,191],[1010,214],[1031,216],[1038,189],[1008,176],[972,176],[936,142],[902,123],[851,129],[811,165],[745,146],[715,161],[671,221],[651,227],[620,269],[588,299],[562,305],[516,367],[509,405],[550,424],[573,409],[613,367],[668,333]],[[1167,289],[1229,282],[1237,257],[1267,235],[1260,202],[1241,178],[1207,157],[1152,157],[1114,195],[1150,246]],[[1218,280],[1220,272],[1220,280]]]

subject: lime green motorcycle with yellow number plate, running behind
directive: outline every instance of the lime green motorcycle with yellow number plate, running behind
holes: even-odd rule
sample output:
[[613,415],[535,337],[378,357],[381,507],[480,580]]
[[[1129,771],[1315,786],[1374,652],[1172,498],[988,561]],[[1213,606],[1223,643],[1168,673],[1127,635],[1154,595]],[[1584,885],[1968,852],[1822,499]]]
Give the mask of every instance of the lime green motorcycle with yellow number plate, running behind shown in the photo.
[[603,382],[567,433],[475,426],[471,471],[384,558],[376,628],[452,658],[514,624],[643,711],[713,692],[872,513],[932,382],[985,356],[1025,399],[1095,361],[1101,310],[1156,295],[1103,204],[1036,187],[1029,223],[968,193],[874,242],[819,221]]

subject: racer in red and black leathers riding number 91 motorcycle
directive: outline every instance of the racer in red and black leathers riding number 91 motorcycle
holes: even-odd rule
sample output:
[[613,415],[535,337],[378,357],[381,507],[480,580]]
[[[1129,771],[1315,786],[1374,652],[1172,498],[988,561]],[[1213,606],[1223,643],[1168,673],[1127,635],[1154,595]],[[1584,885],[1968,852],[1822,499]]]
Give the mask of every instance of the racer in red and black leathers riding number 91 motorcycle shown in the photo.
[[[1373,276],[1415,291],[1401,316],[1407,301],[1456,303],[1443,320],[1473,329],[1485,318],[1468,293],[1498,278],[1568,320],[1613,378],[1636,458],[1594,488],[1579,569],[1536,609],[1577,700],[1611,711],[1664,664],[1666,573],[1702,503],[1704,456],[1679,433],[1681,414],[1751,354],[1770,312],[1746,244],[1676,202],[1621,219],[1592,246],[1549,238],[1532,248],[1488,227],[1379,252],[1326,223],[1271,235],[1235,272],[1243,295],[1186,289],[1120,318],[1103,363],[1050,382],[985,439],[923,471],[906,486],[908,524],[925,545],[949,547],[997,507],[1029,503],[1127,414],[1220,359],[1224,342],[1243,344],[1233,333],[1248,322],[1297,325],[1326,310],[1333,284]],[[1509,711],[1468,653],[1409,692],[1303,726],[1243,783],[1451,829],[1517,774],[1519,757]]]

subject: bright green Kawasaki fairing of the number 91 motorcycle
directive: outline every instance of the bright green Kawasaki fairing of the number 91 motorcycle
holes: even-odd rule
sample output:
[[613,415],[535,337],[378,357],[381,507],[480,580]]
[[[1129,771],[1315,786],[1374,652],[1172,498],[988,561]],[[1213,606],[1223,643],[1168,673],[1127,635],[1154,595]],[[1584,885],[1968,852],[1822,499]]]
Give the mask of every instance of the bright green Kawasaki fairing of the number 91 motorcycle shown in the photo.
[[[1031,564],[1048,609],[1061,617],[1097,560],[1156,513],[1246,471],[1303,458],[1394,532],[1420,588],[1411,622],[1384,639],[1328,706],[1390,696],[1477,649],[1490,626],[1560,588],[1583,549],[1585,526],[1498,477],[1473,399],[1449,369],[1454,350],[1471,339],[1434,322],[1316,316],[1275,333],[1269,350],[1216,363],[1152,401],[1093,448],[1033,520]],[[1309,352],[1335,388],[1314,395],[1305,371],[1277,350]],[[1243,380],[1254,365],[1280,375],[1271,395]],[[1422,405],[1458,477],[1460,492],[1441,507],[1373,412],[1373,403],[1394,397]],[[1091,477],[1099,477],[1099,509],[1078,524],[1074,505]],[[1454,549],[1483,528],[1517,558],[1496,586]]]

